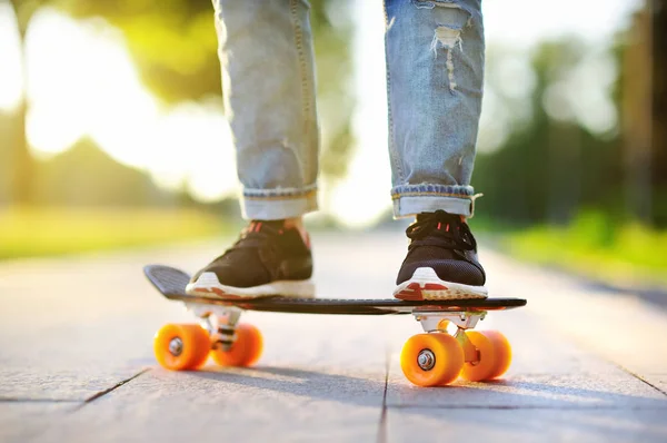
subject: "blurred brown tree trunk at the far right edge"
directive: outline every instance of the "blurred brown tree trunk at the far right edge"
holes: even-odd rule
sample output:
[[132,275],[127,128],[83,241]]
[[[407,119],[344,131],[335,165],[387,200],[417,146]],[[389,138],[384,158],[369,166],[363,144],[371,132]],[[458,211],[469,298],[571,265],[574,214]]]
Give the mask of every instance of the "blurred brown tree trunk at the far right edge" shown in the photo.
[[646,224],[667,226],[667,7],[647,0],[623,48],[626,206]]

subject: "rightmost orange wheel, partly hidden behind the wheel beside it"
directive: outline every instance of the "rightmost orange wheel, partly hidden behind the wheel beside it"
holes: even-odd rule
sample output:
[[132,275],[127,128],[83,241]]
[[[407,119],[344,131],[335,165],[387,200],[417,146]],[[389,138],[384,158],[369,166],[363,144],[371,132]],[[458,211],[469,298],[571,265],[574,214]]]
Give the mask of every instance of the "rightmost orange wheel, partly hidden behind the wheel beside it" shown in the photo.
[[479,352],[479,362],[466,362],[461,376],[470,382],[492,380],[505,374],[511,363],[511,347],[498,331],[469,331],[466,333]]

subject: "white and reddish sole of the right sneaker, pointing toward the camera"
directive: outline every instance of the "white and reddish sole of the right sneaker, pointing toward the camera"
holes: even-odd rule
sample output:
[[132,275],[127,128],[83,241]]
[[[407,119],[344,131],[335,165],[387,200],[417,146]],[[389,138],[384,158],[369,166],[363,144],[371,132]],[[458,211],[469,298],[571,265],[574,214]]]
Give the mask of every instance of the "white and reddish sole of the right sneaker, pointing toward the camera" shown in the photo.
[[394,297],[405,301],[487,298],[484,286],[441,280],[430,267],[418,267],[412,278],[394,289]]

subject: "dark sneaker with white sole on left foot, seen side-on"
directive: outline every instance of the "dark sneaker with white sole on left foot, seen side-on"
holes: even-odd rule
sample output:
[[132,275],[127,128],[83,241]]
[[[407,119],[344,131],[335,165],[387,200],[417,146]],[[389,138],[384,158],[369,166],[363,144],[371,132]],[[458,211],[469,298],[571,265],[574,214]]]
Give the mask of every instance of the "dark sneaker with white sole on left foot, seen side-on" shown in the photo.
[[310,247],[283,220],[251,222],[220,257],[195,274],[186,292],[221,298],[315,295]]

